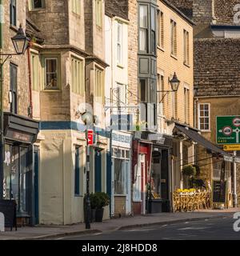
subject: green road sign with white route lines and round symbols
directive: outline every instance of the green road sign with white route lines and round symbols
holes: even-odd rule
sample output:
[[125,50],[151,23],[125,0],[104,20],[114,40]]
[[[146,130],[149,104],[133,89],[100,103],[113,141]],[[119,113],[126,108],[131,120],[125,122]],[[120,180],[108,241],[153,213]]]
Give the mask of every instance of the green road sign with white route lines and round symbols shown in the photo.
[[217,117],[217,143],[240,143],[240,116]]

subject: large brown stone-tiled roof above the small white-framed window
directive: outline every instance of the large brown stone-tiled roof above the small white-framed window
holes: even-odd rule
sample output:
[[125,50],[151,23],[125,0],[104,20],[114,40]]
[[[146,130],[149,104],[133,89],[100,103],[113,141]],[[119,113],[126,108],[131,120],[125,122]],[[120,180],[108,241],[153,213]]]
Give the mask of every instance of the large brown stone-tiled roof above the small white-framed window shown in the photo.
[[240,95],[240,38],[194,39],[195,95]]

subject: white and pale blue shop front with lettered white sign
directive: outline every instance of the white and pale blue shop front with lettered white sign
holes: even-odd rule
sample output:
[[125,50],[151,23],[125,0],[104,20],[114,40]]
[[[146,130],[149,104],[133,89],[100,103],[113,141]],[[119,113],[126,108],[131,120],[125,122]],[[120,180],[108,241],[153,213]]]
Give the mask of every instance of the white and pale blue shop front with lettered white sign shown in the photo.
[[131,214],[130,147],[131,134],[112,132],[111,215],[114,217]]

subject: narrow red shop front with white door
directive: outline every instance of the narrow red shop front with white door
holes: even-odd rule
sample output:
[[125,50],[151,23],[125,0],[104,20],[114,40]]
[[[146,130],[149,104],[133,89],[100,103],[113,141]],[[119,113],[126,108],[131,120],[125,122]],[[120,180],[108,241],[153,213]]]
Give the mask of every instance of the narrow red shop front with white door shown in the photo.
[[133,141],[133,206],[134,214],[146,214],[147,194],[150,184],[152,143]]

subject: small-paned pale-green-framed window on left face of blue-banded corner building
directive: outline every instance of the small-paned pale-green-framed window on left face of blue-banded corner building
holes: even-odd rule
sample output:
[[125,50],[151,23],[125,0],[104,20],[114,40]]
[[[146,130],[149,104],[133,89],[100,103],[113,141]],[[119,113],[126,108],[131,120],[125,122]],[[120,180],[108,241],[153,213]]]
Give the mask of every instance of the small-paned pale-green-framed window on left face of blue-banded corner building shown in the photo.
[[58,89],[58,58],[45,58],[45,90]]

